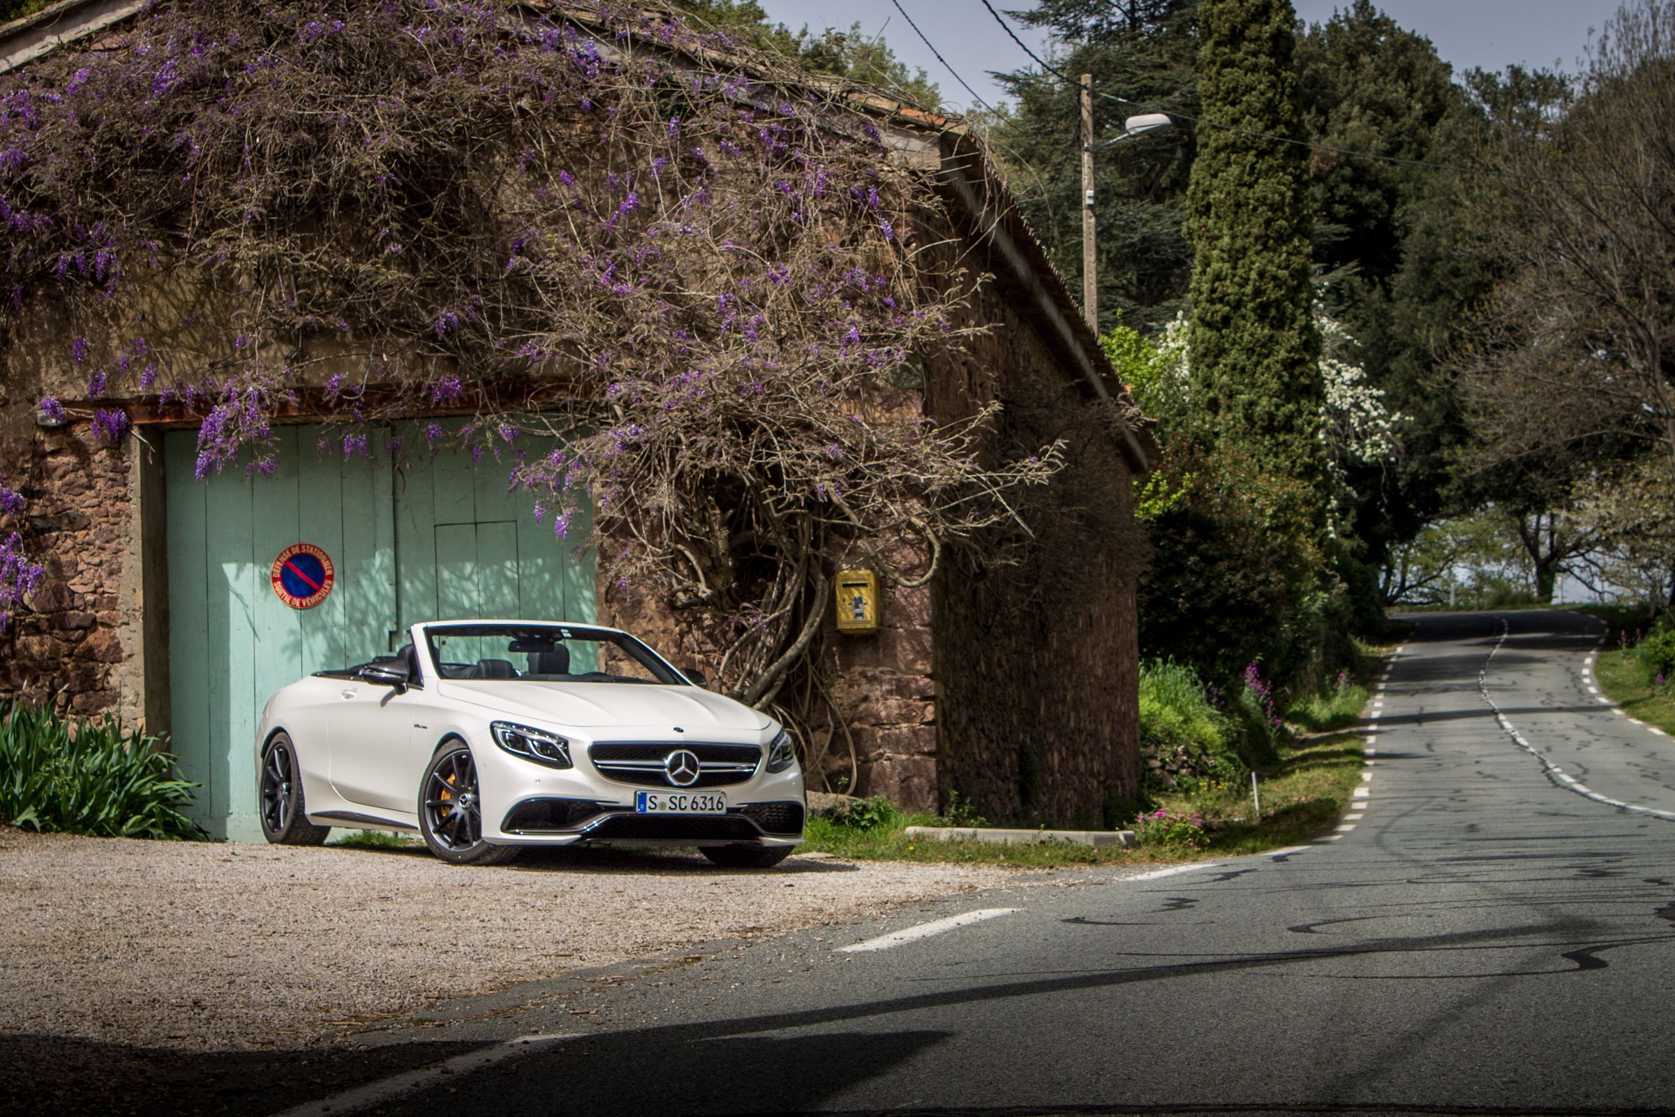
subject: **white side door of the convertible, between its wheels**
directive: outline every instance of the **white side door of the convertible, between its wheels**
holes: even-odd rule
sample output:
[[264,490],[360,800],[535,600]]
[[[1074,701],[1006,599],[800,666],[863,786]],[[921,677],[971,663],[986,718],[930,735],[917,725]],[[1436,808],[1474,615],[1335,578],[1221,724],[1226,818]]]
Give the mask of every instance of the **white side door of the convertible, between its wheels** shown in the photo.
[[415,814],[419,769],[409,749],[422,692],[342,680],[330,708],[332,787],[348,802]]

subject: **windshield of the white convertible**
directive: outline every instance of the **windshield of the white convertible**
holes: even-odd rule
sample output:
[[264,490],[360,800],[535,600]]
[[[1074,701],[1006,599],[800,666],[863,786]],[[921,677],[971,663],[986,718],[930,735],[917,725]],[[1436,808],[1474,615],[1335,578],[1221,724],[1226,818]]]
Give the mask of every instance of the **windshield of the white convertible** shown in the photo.
[[424,635],[442,678],[688,685],[648,646],[606,628],[429,625]]

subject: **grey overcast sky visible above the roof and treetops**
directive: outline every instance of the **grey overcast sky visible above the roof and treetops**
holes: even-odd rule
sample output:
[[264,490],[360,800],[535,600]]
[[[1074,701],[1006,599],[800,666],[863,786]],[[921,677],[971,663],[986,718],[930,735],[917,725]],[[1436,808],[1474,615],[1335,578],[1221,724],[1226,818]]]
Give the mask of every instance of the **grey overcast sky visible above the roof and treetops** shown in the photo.
[[[925,72],[951,107],[963,109],[970,94],[948,69],[936,60],[931,49],[920,42],[891,0],[759,0],[770,20],[792,30],[811,25],[848,28],[859,22],[861,30],[884,33],[896,55]],[[1528,65],[1553,65],[1574,69],[1588,42],[1590,28],[1598,30],[1618,8],[1620,0],[1375,0],[1397,23],[1435,44],[1444,62],[1456,72],[1479,65],[1499,70],[1513,62]],[[1002,99],[1002,89],[988,77],[990,70],[1017,70],[1030,64],[1007,32],[983,8],[982,0],[899,0],[901,7],[920,25],[925,37],[936,47],[972,87],[988,102]],[[997,10],[1022,10],[1035,0],[990,0]],[[1293,0],[1296,13],[1310,23],[1332,17],[1347,7],[1348,0]],[[1013,25],[1030,47],[1044,52],[1042,35]],[[1117,90],[1112,90],[1117,92]]]

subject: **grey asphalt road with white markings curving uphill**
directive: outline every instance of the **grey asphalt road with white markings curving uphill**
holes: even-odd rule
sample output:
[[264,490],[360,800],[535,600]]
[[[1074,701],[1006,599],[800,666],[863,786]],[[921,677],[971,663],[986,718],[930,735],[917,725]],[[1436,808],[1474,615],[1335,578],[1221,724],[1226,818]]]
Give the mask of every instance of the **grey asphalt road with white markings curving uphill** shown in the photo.
[[1675,757],[1590,693],[1596,641],[1419,618],[1365,797],[1295,851],[461,1001],[228,1089],[291,1117],[1675,1114]]

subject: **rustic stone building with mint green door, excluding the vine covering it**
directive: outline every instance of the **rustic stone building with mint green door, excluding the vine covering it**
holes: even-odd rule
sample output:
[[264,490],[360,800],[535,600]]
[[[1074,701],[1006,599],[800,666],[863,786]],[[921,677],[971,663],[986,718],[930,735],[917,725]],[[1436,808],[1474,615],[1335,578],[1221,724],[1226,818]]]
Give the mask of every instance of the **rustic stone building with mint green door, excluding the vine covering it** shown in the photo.
[[[0,72],[119,33],[141,8],[67,0],[8,25]],[[1124,387],[965,127],[894,102],[868,109],[899,157],[936,171],[945,233],[992,275],[970,306],[988,332],[926,362],[923,387],[901,389],[899,407],[948,422],[1000,400],[1003,437],[1064,437],[1069,464],[1020,564],[948,566],[928,586],[888,591],[878,633],[827,641],[846,735],[822,775],[910,809],[958,792],[995,821],[1097,826],[1112,797],[1139,785],[1144,544],[1132,479],[1151,442],[1124,417]],[[85,389],[60,342],[40,300],[0,337],[0,477],[28,499],[25,544],[47,568],[0,636],[0,693],[166,734],[203,785],[198,819],[211,834],[260,836],[251,734],[266,697],[392,650],[419,620],[618,623],[677,663],[714,670],[660,603],[608,605],[591,559],[553,544],[504,471],[377,445],[322,457],[307,452],[318,415],[295,414],[280,429],[276,476],[199,481],[196,424],[178,414],[129,400],[134,427],[119,440],[77,419],[111,402],[77,399]],[[47,394],[69,422],[37,410]],[[399,425],[377,434],[395,437]],[[275,556],[296,543],[335,566],[333,593],[307,611],[270,588]]]

